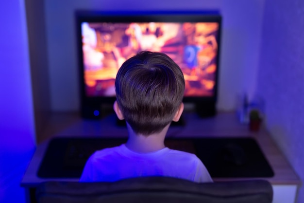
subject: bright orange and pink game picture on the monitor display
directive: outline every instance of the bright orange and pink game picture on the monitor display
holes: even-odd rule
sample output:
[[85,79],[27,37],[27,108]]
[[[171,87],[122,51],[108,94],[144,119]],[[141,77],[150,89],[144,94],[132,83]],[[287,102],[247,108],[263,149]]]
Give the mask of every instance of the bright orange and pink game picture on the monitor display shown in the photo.
[[115,96],[121,64],[140,51],[162,52],[182,69],[185,96],[213,96],[218,53],[216,22],[82,23],[87,96]]

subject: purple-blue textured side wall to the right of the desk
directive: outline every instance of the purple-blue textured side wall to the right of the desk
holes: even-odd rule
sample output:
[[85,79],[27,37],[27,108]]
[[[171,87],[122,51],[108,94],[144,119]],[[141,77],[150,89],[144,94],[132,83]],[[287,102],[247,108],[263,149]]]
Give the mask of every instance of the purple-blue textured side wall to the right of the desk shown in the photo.
[[[304,1],[267,0],[257,90],[266,124],[304,181]],[[304,187],[298,203],[304,203]]]

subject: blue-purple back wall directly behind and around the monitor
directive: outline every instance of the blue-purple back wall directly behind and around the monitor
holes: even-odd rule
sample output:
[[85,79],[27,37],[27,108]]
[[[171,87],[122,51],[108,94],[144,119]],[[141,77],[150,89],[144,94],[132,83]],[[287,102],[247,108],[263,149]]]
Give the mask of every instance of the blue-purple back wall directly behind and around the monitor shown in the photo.
[[79,85],[74,11],[219,10],[223,30],[219,110],[233,110],[236,95],[255,93],[265,0],[45,0],[52,111],[78,111]]

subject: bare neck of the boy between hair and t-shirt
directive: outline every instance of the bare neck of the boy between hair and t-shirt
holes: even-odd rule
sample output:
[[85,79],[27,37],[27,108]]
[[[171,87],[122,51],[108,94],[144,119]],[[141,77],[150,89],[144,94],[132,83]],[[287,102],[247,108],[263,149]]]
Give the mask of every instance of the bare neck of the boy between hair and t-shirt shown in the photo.
[[129,131],[129,139],[126,143],[126,147],[130,150],[140,153],[148,153],[165,148],[164,140],[169,129],[169,125],[166,126],[161,132],[154,133],[149,136],[135,134],[128,124],[127,126]]

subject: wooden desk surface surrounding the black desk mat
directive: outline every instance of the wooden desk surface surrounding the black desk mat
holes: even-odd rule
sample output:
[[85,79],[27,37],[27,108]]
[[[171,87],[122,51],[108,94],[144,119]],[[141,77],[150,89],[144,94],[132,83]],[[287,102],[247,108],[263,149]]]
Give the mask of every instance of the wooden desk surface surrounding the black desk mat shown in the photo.
[[[202,119],[195,113],[185,113],[184,127],[170,127],[167,137],[202,138],[202,137],[253,137],[270,163],[274,176],[263,178],[272,185],[301,185],[301,180],[288,164],[287,159],[277,148],[270,134],[262,128],[259,132],[250,132],[247,125],[241,125],[234,113],[219,113],[212,118]],[[46,128],[45,140],[38,143],[34,156],[25,171],[21,186],[33,187],[38,183],[59,180],[78,181],[78,179],[41,179],[37,177],[38,167],[51,137],[127,137],[126,127],[115,125],[115,115],[101,120],[84,120],[75,114],[53,114]],[[214,181],[244,180],[249,178],[214,178]],[[252,179],[252,178],[250,178]]]

